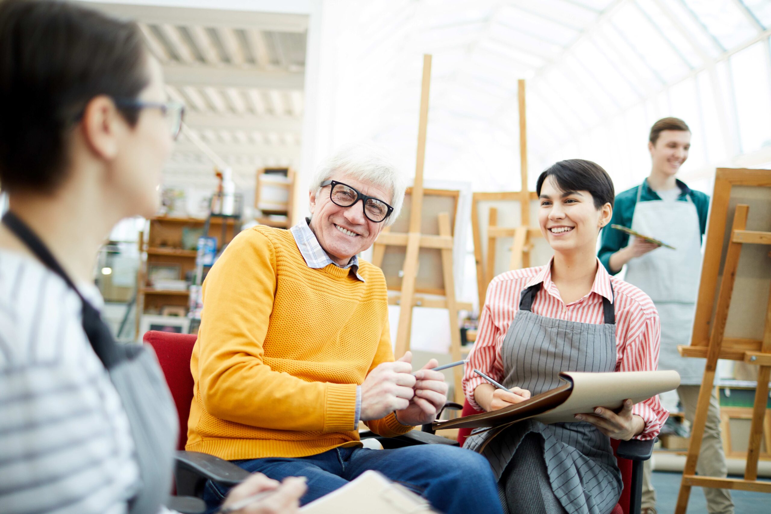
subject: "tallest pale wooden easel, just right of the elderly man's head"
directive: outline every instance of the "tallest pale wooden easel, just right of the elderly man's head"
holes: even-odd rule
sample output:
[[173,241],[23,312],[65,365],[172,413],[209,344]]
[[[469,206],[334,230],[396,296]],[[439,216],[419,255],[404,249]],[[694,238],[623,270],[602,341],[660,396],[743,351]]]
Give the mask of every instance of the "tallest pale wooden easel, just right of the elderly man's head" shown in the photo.
[[[455,278],[453,277],[453,229],[449,222],[449,213],[439,213],[439,235],[421,233],[423,213],[423,165],[426,160],[426,129],[429,115],[429,88],[431,84],[431,55],[423,55],[423,87],[420,94],[420,118],[418,125],[418,153],[415,167],[415,183],[410,190],[411,211],[409,232],[393,233],[387,228],[380,233],[372,249],[372,264],[380,267],[385,247],[406,247],[404,266],[402,267],[402,289],[394,301],[399,304],[399,326],[396,330],[396,357],[401,357],[409,350],[412,331],[412,307],[441,307],[449,311],[450,354],[453,361],[460,361],[460,327],[455,297]],[[442,298],[416,297],[416,277],[418,274],[418,254],[421,248],[438,248],[442,254],[443,291]],[[469,307],[470,305],[463,305]],[[463,367],[453,369],[455,378],[455,400],[463,403]]]

